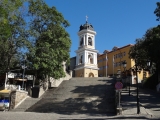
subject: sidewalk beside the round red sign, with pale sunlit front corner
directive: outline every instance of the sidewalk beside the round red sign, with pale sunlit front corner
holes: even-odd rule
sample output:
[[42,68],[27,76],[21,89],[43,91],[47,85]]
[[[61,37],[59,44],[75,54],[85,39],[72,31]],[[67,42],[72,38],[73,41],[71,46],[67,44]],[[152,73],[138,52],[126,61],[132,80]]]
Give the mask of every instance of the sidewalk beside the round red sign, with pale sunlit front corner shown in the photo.
[[[121,106],[122,106],[122,115],[138,115],[137,114],[137,94],[136,87],[130,88],[130,96],[129,96],[129,87],[123,88],[121,93]],[[153,116],[153,114],[145,109],[140,103],[140,114],[149,118]]]

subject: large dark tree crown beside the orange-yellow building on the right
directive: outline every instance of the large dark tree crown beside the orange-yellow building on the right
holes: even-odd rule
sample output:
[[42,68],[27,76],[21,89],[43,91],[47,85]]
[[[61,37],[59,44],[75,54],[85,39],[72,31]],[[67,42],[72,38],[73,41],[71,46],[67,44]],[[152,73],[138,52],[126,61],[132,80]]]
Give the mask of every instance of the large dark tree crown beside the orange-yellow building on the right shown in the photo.
[[147,68],[147,60],[151,62],[151,65],[160,64],[160,54],[158,53],[160,53],[159,25],[147,30],[143,38],[136,40],[135,46],[129,52],[129,57],[136,59],[138,66]]

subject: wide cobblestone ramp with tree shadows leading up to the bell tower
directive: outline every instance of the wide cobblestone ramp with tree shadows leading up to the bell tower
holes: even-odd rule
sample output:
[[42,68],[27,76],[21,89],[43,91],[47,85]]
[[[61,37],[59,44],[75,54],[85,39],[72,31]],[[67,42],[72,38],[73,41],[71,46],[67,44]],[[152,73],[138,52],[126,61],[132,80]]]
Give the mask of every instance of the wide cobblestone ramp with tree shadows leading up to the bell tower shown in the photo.
[[27,112],[115,115],[114,80],[72,78],[48,90]]

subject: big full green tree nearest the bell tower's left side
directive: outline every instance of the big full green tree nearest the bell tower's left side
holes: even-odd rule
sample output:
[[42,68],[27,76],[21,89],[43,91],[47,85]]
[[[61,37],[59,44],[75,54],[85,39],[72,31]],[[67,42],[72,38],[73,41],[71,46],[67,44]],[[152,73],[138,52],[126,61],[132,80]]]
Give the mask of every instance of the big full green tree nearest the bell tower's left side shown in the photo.
[[30,47],[29,59],[37,76],[43,74],[54,78],[64,77],[62,62],[69,61],[71,40],[65,28],[67,20],[55,7],[42,0],[29,1]]

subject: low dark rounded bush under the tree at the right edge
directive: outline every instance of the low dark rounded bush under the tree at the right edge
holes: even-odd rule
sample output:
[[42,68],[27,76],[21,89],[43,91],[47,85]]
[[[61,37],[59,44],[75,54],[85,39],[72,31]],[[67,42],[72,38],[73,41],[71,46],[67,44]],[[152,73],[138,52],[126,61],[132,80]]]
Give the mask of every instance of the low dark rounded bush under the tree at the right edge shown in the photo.
[[153,74],[149,78],[144,79],[143,87],[149,89],[156,89],[156,85],[158,84],[157,75]]

